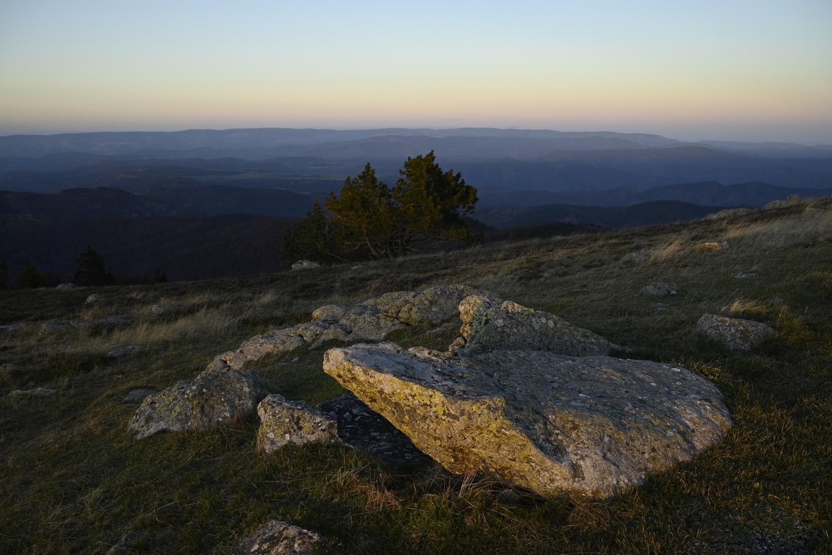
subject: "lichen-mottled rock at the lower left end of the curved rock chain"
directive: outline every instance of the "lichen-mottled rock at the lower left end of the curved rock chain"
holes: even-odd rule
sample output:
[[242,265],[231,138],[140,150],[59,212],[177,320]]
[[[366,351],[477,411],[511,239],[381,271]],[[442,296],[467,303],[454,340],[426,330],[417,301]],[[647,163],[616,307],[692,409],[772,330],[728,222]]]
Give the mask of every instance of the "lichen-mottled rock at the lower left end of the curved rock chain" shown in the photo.
[[128,425],[133,439],[162,430],[210,430],[217,424],[248,416],[267,394],[256,370],[206,370],[193,381],[181,381],[146,397]]

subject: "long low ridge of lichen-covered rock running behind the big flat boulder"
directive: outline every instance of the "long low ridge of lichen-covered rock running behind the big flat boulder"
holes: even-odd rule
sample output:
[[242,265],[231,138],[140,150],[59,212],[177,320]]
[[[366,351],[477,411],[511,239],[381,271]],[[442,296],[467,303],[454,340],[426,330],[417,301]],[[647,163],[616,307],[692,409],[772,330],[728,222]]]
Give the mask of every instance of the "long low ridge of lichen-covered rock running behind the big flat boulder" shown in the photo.
[[394,330],[411,325],[435,325],[459,314],[459,303],[477,294],[467,285],[432,287],[421,293],[396,291],[360,305],[325,305],[314,310],[312,321],[284,330],[255,335],[239,349],[218,354],[208,369],[241,369],[271,354],[306,346],[316,349],[329,340],[345,343],[380,341]]

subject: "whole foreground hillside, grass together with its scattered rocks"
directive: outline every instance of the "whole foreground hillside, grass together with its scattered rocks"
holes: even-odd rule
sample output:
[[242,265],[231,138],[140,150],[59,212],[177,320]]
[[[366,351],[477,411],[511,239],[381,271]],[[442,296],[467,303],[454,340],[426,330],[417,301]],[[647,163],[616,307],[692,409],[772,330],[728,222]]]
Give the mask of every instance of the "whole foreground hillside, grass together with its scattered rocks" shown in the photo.
[[[820,553],[832,218],[808,208],[0,291],[0,552]],[[385,405],[393,379],[448,412]],[[619,482],[541,487],[505,446]]]

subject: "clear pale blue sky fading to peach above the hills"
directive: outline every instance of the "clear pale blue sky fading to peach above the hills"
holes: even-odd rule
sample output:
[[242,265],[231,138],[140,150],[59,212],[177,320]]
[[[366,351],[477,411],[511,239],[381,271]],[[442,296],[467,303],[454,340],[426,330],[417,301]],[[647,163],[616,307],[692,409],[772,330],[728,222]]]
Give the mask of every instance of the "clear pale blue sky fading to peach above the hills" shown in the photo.
[[0,135],[388,126],[832,144],[832,2],[0,0]]

